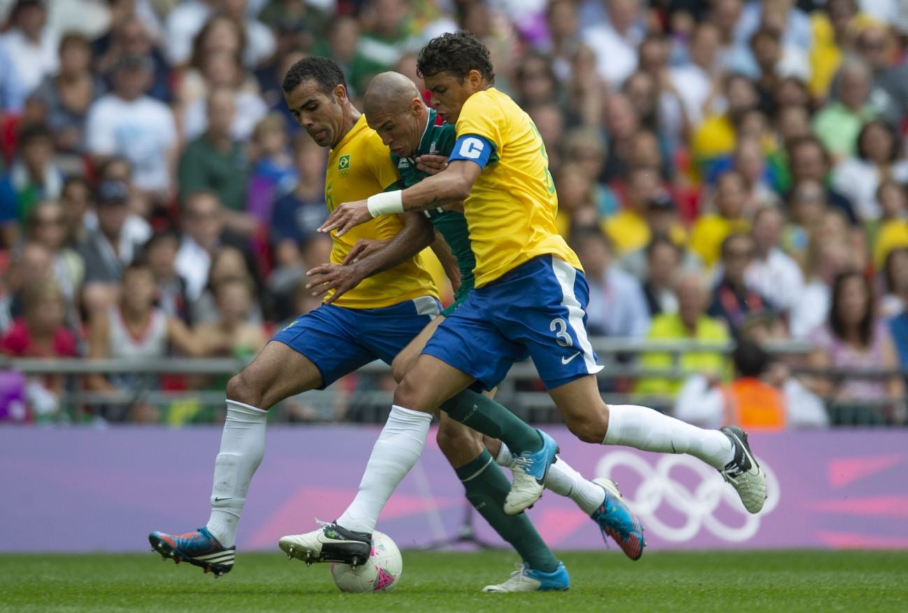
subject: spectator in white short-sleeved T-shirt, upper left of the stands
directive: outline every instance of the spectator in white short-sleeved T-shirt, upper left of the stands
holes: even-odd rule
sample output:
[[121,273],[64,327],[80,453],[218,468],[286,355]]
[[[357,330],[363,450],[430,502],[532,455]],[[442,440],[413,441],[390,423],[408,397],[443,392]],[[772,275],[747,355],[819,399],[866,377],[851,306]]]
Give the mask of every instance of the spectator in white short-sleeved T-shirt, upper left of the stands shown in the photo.
[[153,200],[173,193],[177,150],[170,108],[145,94],[152,83],[153,60],[124,55],[114,70],[114,92],[92,104],[85,134],[97,161],[120,155],[133,166],[133,183]]

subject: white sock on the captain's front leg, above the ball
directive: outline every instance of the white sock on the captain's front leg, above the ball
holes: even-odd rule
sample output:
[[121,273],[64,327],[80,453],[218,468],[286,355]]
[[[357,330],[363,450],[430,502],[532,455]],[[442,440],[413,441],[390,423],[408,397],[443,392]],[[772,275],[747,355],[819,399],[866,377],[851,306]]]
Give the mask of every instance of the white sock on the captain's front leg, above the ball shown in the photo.
[[429,435],[430,413],[396,404],[375,441],[356,498],[338,518],[338,525],[356,532],[372,532],[381,509],[394,489],[419,460]]

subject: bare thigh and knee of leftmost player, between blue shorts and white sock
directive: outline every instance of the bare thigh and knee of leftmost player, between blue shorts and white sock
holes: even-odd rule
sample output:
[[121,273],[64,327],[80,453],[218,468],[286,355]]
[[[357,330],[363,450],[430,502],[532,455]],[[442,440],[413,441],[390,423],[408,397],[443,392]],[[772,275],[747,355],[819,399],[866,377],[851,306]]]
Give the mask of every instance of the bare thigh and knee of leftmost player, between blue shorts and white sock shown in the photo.
[[271,341],[227,384],[227,398],[262,409],[321,386],[321,372],[299,351]]

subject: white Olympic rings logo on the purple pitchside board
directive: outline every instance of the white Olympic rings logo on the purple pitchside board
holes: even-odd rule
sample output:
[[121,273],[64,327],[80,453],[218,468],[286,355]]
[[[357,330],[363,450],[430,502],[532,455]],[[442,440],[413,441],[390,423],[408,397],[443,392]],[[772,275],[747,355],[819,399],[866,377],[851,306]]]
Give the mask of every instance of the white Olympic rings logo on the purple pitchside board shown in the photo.
[[[632,470],[640,477],[640,483],[633,492],[622,489],[627,506],[643,522],[647,530],[652,530],[656,536],[675,542],[693,539],[701,529],[714,534],[719,539],[730,542],[742,542],[751,539],[760,528],[760,520],[771,513],[779,504],[781,492],[775,473],[763,460],[757,459],[760,469],[766,475],[766,499],[763,510],[757,515],[747,512],[735,489],[725,483],[716,470],[705,462],[693,456],[677,454],[663,455],[656,460],[656,467],[649,461],[629,451],[609,451],[598,461],[597,476],[615,479]],[[696,487],[689,489],[684,485],[694,480],[689,477],[679,481],[672,477],[673,471],[684,470],[693,473],[694,480],[698,481]],[[681,525],[677,521],[666,523],[658,517],[659,509],[667,504],[671,509],[666,515],[673,518],[680,515],[683,518]],[[725,504],[730,511],[722,515],[727,518],[732,512],[742,516],[742,521],[735,521],[734,525],[725,523],[716,517],[716,510]]]

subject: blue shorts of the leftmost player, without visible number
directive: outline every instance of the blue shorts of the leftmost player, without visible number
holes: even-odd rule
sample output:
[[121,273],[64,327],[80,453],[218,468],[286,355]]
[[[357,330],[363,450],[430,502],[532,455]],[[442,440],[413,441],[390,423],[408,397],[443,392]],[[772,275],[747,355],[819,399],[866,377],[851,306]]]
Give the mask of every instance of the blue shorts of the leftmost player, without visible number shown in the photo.
[[322,304],[300,315],[271,339],[309,358],[324,390],[370,361],[388,364],[439,314],[441,305],[421,296],[382,309],[345,309]]

